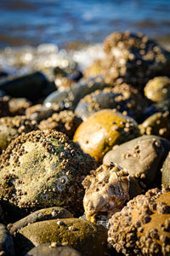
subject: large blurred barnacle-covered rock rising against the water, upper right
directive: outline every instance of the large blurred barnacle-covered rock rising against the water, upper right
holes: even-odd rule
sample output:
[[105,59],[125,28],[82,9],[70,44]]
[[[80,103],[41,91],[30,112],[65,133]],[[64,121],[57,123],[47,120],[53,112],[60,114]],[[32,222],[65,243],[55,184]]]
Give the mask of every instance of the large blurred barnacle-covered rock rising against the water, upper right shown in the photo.
[[105,82],[122,79],[143,90],[156,76],[169,76],[170,53],[142,33],[113,32],[104,42],[105,57],[101,60]]

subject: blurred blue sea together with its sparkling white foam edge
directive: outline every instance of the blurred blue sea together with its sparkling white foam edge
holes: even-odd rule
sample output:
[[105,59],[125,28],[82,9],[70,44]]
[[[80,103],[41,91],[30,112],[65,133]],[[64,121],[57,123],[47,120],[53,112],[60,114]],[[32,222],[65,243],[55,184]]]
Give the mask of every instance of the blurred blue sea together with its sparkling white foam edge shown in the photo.
[[169,0],[1,0],[0,67],[32,60],[36,67],[42,54],[53,66],[64,48],[74,49],[83,69],[103,55],[101,43],[114,31],[144,32],[169,48],[169,14]]

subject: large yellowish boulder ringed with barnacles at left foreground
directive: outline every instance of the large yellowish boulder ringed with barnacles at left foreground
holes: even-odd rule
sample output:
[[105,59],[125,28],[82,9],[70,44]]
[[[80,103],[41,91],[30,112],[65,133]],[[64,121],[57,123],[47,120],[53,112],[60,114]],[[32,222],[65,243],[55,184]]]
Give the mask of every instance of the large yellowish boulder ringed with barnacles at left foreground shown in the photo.
[[20,212],[54,206],[80,215],[82,180],[95,166],[94,158],[65,134],[31,131],[16,138],[0,156],[0,199],[11,211],[14,208],[16,220]]

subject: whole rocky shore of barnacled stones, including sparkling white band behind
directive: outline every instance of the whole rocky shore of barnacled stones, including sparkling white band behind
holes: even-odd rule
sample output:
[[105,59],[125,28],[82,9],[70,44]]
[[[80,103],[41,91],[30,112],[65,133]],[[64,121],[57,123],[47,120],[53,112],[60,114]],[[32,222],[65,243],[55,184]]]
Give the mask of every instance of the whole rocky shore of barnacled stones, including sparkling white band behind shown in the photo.
[[170,52],[93,47],[3,52],[1,255],[170,255]]

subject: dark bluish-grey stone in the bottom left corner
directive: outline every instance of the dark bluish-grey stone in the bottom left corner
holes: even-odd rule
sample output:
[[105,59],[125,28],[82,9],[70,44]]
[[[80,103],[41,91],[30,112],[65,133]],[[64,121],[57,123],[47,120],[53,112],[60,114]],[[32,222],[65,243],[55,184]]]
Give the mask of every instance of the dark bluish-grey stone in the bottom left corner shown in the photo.
[[14,242],[9,231],[0,224],[0,255],[14,256]]

